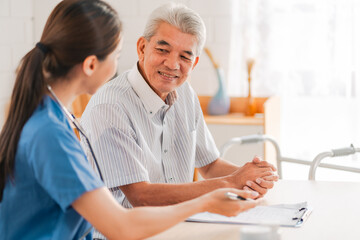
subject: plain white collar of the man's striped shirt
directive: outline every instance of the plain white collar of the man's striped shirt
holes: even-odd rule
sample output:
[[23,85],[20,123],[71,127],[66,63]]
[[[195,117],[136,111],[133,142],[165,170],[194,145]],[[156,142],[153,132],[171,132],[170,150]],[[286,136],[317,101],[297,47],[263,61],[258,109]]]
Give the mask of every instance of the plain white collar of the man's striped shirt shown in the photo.
[[149,116],[154,116],[160,109],[169,108],[177,100],[176,90],[169,93],[166,98],[166,104],[145,81],[139,72],[137,63],[132,67],[128,74],[131,87],[142,101]]

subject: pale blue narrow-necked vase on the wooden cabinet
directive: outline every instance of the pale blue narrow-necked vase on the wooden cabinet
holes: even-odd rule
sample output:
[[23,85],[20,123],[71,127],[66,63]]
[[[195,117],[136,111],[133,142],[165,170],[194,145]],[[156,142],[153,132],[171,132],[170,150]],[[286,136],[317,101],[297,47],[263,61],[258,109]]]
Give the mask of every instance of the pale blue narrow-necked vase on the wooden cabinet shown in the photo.
[[221,68],[216,68],[219,88],[216,94],[211,98],[207,111],[210,115],[225,115],[229,113],[230,98],[226,93],[224,86],[224,72]]

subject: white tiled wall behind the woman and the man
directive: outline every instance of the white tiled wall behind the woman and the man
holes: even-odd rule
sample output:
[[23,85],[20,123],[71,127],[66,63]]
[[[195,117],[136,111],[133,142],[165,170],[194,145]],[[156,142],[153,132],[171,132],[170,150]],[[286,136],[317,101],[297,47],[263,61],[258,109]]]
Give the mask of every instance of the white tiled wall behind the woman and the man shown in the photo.
[[[225,72],[228,68],[231,0],[174,0],[197,11],[207,28],[206,45]],[[21,57],[39,41],[45,21],[59,0],[0,0],[0,126],[5,104],[9,102],[14,71]],[[124,23],[124,47],[119,73],[137,60],[136,41],[142,35],[150,12],[165,0],[108,0]],[[195,68],[191,84],[199,95],[212,95],[217,89],[215,71],[205,54]]]

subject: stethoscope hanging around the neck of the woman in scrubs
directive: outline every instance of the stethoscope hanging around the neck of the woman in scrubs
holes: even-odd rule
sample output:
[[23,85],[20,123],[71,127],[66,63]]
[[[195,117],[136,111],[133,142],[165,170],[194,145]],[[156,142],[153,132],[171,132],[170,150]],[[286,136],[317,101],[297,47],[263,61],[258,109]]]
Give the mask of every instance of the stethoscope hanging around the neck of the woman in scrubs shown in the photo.
[[67,110],[67,108],[60,102],[59,98],[55,95],[55,93],[53,92],[53,90],[51,89],[50,85],[47,85],[47,89],[49,90],[49,92],[51,93],[51,95],[54,97],[55,101],[57,102],[57,104],[59,104],[59,106],[61,107],[62,111],[65,113],[66,117],[72,122],[72,124],[74,124],[75,128],[79,131],[79,133],[85,138],[85,141],[87,143],[87,145],[89,146],[90,152],[91,152],[91,156],[94,159],[95,165],[96,165],[96,169],[99,173],[100,179],[101,181],[104,182],[103,176],[101,174],[100,171],[100,167],[99,164],[97,162],[97,159],[95,157],[95,153],[91,147],[89,138],[86,136],[85,134],[85,130],[83,129],[83,127],[80,125],[80,123],[76,120],[75,116],[73,114],[70,113],[69,110]]

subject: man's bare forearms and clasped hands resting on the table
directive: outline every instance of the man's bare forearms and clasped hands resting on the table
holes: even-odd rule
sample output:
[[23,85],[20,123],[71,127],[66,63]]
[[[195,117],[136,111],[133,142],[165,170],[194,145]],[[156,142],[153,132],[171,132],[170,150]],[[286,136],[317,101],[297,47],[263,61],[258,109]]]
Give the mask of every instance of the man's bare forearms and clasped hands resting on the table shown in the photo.
[[[201,168],[200,172],[203,172],[208,177],[229,172],[230,174],[184,184],[138,182],[121,186],[120,189],[134,207],[162,206],[193,199],[214,189],[224,187],[238,189],[245,187],[263,195],[267,189],[272,188],[273,181],[278,179],[273,173],[272,165],[259,159],[254,159],[241,168],[224,160],[219,161],[219,159],[213,164],[210,167]],[[213,167],[224,167],[224,170],[215,170],[212,169]],[[263,182],[256,184],[255,182],[259,178],[263,179]],[[249,182],[253,183],[253,185],[250,184],[249,186]]]

